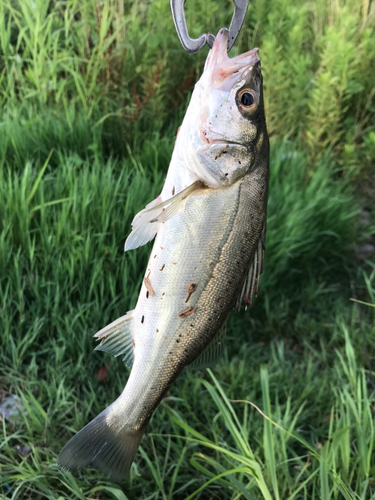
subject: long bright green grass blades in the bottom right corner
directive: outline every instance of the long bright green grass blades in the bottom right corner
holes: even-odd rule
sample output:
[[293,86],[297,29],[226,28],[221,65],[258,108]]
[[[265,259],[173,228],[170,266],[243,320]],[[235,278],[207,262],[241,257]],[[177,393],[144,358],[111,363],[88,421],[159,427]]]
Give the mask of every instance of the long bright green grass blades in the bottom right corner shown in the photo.
[[[374,394],[367,389],[365,370],[357,364],[348,331],[340,322],[338,328],[343,329],[345,354],[337,353],[332,380],[327,384],[334,403],[327,408],[325,429],[315,437],[318,441],[307,441],[296,429],[301,412],[306,411],[303,403],[299,410],[292,411],[291,399],[280,404],[277,392],[275,401],[271,402],[266,366],[260,370],[264,412],[249,401],[228,399],[210,370],[213,384],[199,381],[202,392],[207,391],[217,407],[211,439],[194,430],[172,410],[172,421],[185,430],[190,442],[202,449],[193,455],[192,465],[210,478],[187,498],[194,498],[213,482],[232,491],[231,498],[242,495],[249,500],[370,498]],[[315,364],[313,360],[309,362]],[[242,412],[236,411],[238,405],[243,405]],[[275,413],[273,406],[277,408]],[[249,443],[254,441],[254,420],[259,418],[263,420],[263,436],[260,438],[258,432],[260,439],[254,449]],[[296,448],[300,448],[299,453]],[[214,456],[209,450],[214,450]]]

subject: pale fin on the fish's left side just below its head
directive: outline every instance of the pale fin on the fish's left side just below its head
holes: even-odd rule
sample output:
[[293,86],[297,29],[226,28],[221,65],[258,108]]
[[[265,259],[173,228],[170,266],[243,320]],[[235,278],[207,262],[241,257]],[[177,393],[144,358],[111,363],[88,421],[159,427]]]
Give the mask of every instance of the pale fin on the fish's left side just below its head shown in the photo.
[[125,252],[133,250],[151,241],[156,232],[158,223],[171,219],[181,208],[183,201],[189,194],[201,186],[199,181],[176,194],[166,201],[160,196],[137,214],[132,222],[132,232],[125,242]]

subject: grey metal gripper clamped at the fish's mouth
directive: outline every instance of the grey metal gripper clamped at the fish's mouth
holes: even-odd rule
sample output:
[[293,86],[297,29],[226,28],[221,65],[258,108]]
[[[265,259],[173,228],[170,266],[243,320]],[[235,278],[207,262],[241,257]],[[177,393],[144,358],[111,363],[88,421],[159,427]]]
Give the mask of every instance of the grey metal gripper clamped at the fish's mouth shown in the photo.
[[[212,48],[215,41],[215,37],[212,33],[209,33],[208,35],[207,33],[202,33],[198,38],[189,37],[184,12],[185,1],[186,0],[171,0],[172,17],[181,45],[186,52],[189,52],[189,54],[198,52],[206,45],[206,43]],[[245,19],[247,7],[249,5],[249,0],[233,0],[233,3],[234,14],[229,26],[228,52],[232,48],[238,33],[240,32]]]

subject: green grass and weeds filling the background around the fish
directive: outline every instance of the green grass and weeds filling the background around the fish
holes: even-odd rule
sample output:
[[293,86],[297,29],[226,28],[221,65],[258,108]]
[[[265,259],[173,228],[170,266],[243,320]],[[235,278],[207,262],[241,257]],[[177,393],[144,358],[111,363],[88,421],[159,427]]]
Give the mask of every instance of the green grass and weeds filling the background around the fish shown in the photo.
[[[233,5],[186,11],[197,36]],[[135,305],[150,246],[123,243],[207,50],[184,53],[168,0],[0,2],[0,400],[23,406],[0,420],[1,498],[375,498],[374,28],[369,0],[251,0],[231,54],[258,46],[265,82],[260,293],[116,485],[56,455],[126,382],[92,335]]]

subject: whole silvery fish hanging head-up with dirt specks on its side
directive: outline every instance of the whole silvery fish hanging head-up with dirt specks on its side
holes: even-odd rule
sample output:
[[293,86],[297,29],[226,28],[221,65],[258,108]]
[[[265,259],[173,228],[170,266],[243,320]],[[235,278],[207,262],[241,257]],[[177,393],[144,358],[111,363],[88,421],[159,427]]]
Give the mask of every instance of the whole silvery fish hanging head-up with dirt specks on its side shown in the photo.
[[160,195],[125,251],[155,238],[134,310],[95,334],[132,366],[121,395],[61,450],[120,482],[151,416],[185,367],[214,363],[231,310],[251,303],[263,268],[269,139],[258,49],[230,58],[215,38],[179,128]]

